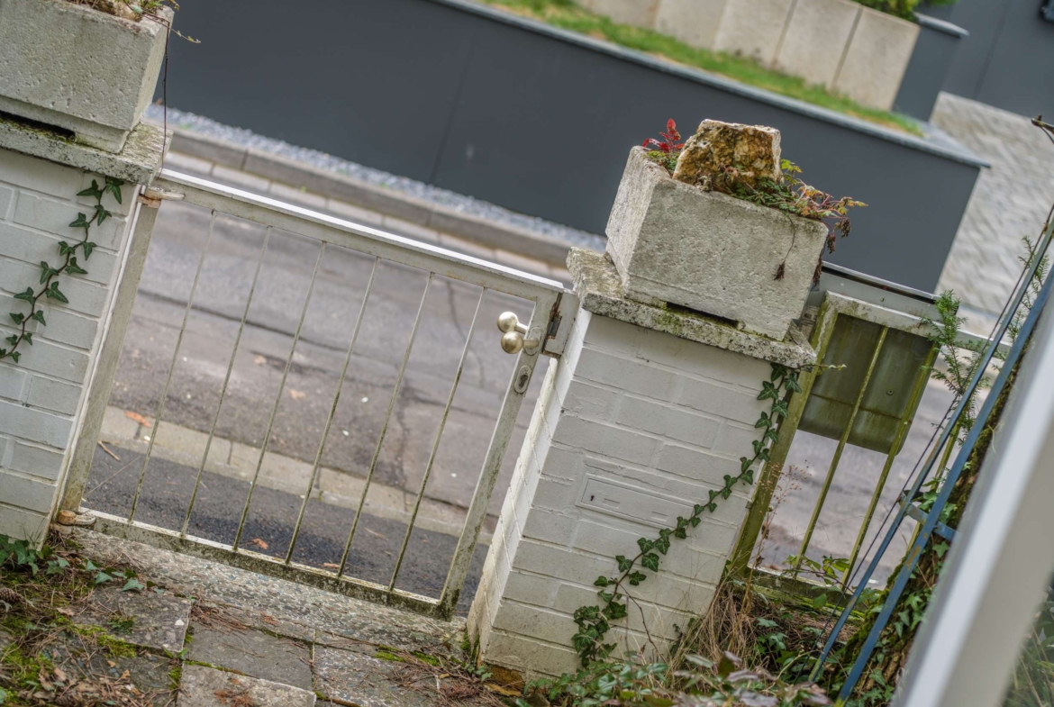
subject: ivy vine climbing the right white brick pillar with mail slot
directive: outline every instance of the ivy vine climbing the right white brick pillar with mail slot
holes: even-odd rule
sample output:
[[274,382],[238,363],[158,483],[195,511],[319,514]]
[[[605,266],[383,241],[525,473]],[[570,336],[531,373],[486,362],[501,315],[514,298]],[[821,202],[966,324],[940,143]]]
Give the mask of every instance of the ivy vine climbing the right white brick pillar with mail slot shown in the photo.
[[777,429],[780,420],[787,415],[788,394],[801,392],[801,386],[798,385],[799,371],[779,364],[773,364],[772,367],[772,376],[762,382],[761,393],[758,394],[759,400],[772,400],[772,407],[767,412],[762,412],[758,421],[754,424],[755,429],[764,432],[760,439],[754,441],[754,456],[740,457],[739,475],[725,474],[724,486],[720,489],[710,489],[707,503],[696,504],[691,515],[677,518],[677,526],[663,528],[659,531],[658,537],[638,538],[637,545],[640,551],[636,555],[632,557],[618,555],[614,558],[619,564],[619,574],[601,575],[593,583],[600,587],[600,591],[597,592],[601,598],[600,605],[583,606],[574,611],[574,623],[579,630],[571,637],[571,643],[583,666],[588,667],[594,661],[603,661],[614,650],[616,644],[604,643],[604,636],[611,628],[610,622],[624,618],[628,614],[627,602],[631,601],[631,597],[626,591],[626,585],[636,587],[647,580],[648,575],[641,571],[642,569],[658,572],[660,555],[665,555],[669,551],[670,538],[686,538],[688,529],[696,528],[702,523],[704,512],[714,513],[718,509],[718,500],[727,499],[737,484],[754,484],[756,463],[768,461],[769,443],[779,439]]

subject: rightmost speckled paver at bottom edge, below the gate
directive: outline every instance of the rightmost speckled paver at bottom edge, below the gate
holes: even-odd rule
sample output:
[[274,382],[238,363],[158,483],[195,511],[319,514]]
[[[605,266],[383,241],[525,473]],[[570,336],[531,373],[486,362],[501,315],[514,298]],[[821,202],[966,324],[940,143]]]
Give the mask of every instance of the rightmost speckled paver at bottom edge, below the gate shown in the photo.
[[330,700],[359,707],[432,704],[424,694],[407,691],[387,679],[396,665],[357,651],[316,646],[315,689]]

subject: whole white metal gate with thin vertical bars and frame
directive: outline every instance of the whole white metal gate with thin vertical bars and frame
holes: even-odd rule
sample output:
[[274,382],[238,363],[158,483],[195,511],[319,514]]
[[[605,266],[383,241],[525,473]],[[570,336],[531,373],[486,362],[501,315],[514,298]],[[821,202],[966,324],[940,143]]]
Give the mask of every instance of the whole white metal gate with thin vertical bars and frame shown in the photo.
[[[516,414],[520,410],[521,402],[524,399],[528,384],[530,382],[539,354],[544,353],[550,356],[559,356],[562,353],[567,332],[570,330],[574,313],[578,310],[578,299],[574,294],[565,290],[559,282],[538,277],[535,275],[515,271],[476,258],[462,256],[429,243],[413,241],[378,231],[376,229],[363,227],[326,214],[313,212],[296,205],[276,201],[274,199],[256,196],[239,190],[230,189],[208,180],[174,173],[169,170],[163,171],[158,180],[155,181],[150,192],[148,192],[148,197],[151,195],[193,204],[207,210],[207,213],[209,214],[208,234],[204,238],[204,247],[201,250],[200,257],[197,261],[197,270],[194,274],[190,296],[182,316],[182,325],[178,331],[175,348],[172,352],[172,359],[168,369],[168,378],[163,384],[158,408],[156,414],[154,415],[155,425],[164,418],[165,404],[169,399],[169,388],[172,382],[173,371],[179,360],[180,345],[183,341],[183,334],[187,331],[188,317],[195,306],[195,293],[198,290],[198,281],[201,276],[202,266],[206,262],[207,254],[209,253],[209,246],[212,241],[213,228],[216,223],[217,217],[229,216],[259,224],[266,228],[266,236],[264,238],[262,249],[259,253],[259,259],[256,262],[256,270],[253,275],[252,286],[249,290],[248,300],[245,305],[240,327],[238,328],[237,336],[234,339],[234,349],[230,356],[230,364],[228,365],[227,373],[223,378],[222,389],[219,391],[219,406],[216,409],[212,428],[209,430],[209,440],[206,445],[204,454],[202,455],[200,465],[197,469],[197,478],[194,483],[193,493],[190,496],[190,502],[187,506],[186,514],[180,527],[164,528],[136,519],[136,511],[140,503],[143,480],[147,475],[147,469],[150,464],[152,452],[154,451],[154,444],[156,440],[156,435],[154,435],[149,440],[141,468],[138,470],[138,480],[135,486],[135,494],[132,499],[131,511],[126,516],[96,512],[96,515],[98,516],[96,529],[128,539],[134,539],[192,555],[221,561],[233,566],[294,582],[310,584],[331,591],[371,598],[373,601],[409,608],[430,615],[449,617],[457,605],[458,596],[465,584],[465,580],[469,571],[469,563],[472,559],[473,551],[480,538],[481,527],[487,513],[487,507],[494,489],[497,473],[505,456]],[[156,203],[154,205],[156,205]],[[160,208],[165,208],[163,201],[161,202]],[[142,215],[140,216],[136,233],[133,235],[130,255],[124,266],[121,284],[115,298],[116,303],[108,323],[108,334],[104,340],[102,353],[100,354],[99,365],[93,376],[83,431],[75,449],[70,478],[62,504],[63,508],[76,509],[81,503],[85,482],[92,466],[96,441],[99,438],[98,434],[101,429],[103,412],[108,400],[110,399],[111,388],[113,386],[114,375],[117,369],[117,360],[121,353],[128,320],[131,316],[132,305],[136,296],[151,233],[154,227],[154,219],[156,217],[156,211],[153,209],[142,209],[141,212]],[[154,213],[151,214],[150,212]],[[317,241],[318,255],[315,259],[314,272],[311,275],[311,281],[308,286],[307,295],[302,303],[296,302],[295,305],[291,305],[291,307],[299,308],[299,320],[296,323],[295,334],[293,335],[293,343],[289,350],[289,356],[285,361],[285,369],[281,374],[281,385],[278,386],[277,397],[270,409],[267,431],[264,437],[264,444],[260,447],[259,460],[256,463],[255,473],[252,475],[252,480],[249,485],[248,497],[243,499],[243,503],[240,500],[237,502],[240,505],[240,521],[237,525],[234,541],[230,544],[221,544],[189,534],[188,530],[191,514],[194,510],[194,504],[198,498],[202,473],[206,469],[206,461],[209,457],[209,446],[213,444],[213,438],[216,432],[216,420],[219,418],[223,398],[228,393],[228,385],[231,380],[231,373],[235,365],[236,354],[238,353],[238,346],[241,342],[241,335],[246,328],[246,320],[249,315],[250,305],[253,300],[253,294],[256,292],[258,284],[257,280],[259,279],[260,263],[264,261],[264,257],[268,249],[268,242],[271,239],[273,231],[294,234],[296,236]],[[337,386],[333,392],[332,402],[329,408],[329,416],[326,420],[325,431],[323,432],[321,439],[318,445],[318,451],[314,458],[311,477],[302,494],[302,503],[300,504],[299,511],[296,516],[295,527],[292,532],[292,539],[289,543],[288,551],[285,553],[285,557],[269,556],[260,552],[248,550],[245,547],[246,538],[243,537],[243,531],[246,521],[249,515],[253,493],[257,489],[260,468],[264,464],[268,443],[273,433],[275,414],[278,411],[278,406],[286,388],[286,378],[289,374],[290,367],[293,364],[293,356],[296,352],[297,341],[300,338],[301,327],[304,326],[305,316],[308,313],[308,307],[311,302],[312,293],[315,290],[318,269],[319,266],[327,260],[327,252],[330,251],[332,253],[333,249],[347,249],[349,251],[371,257],[372,267],[370,270],[369,281],[366,284],[365,296],[363,297],[358,309],[358,317],[354,322],[348,323],[348,327],[352,332],[350,345],[348,346],[345,354],[344,367],[340,370]],[[365,485],[363,487],[362,497],[358,502],[358,507],[355,510],[354,519],[348,529],[343,553],[337,563],[327,565],[327,567],[330,568],[330,571],[327,571],[326,569],[294,562],[293,551],[300,535],[306,512],[308,511],[308,498],[318,474],[319,464],[331,431],[334,413],[337,410],[340,389],[345,381],[348,365],[352,359],[356,342],[359,341],[359,330],[367,306],[370,301],[370,294],[374,286],[374,276],[377,272],[378,264],[384,262],[398,263],[401,266],[410,267],[417,269],[423,273],[427,273],[425,293],[422,296],[419,305],[417,306],[406,350],[401,354],[401,365],[395,379],[395,387],[391,393],[390,399],[388,400],[384,424],[376,440],[372,460],[370,461],[368,470],[365,474]],[[422,322],[425,299],[428,297],[429,289],[432,287],[433,280],[437,277],[450,278],[463,283],[476,286],[480,288],[480,300],[476,305],[472,325],[469,328],[468,336],[465,341],[465,348],[461,354],[456,373],[454,374],[450,386],[449,396],[446,399],[446,407],[443,410],[437,432],[431,443],[431,453],[424,471],[424,477],[421,482],[419,490],[416,494],[416,500],[412,505],[409,523],[406,527],[405,536],[402,541],[397,558],[394,562],[394,571],[392,572],[391,580],[387,583],[387,585],[383,583],[368,582],[358,577],[350,576],[347,573],[348,553],[355,539],[356,532],[359,527],[359,518],[363,517],[363,509],[364,504],[366,503],[367,492],[369,491],[370,484],[374,477],[382,445],[384,444],[385,435],[388,431],[396,396],[399,393],[399,386],[407,369],[407,362],[410,358],[411,350],[413,349],[414,338],[416,337],[418,326]],[[487,296],[488,292],[511,295],[527,300],[528,302],[532,302],[533,311],[529,313],[528,317],[526,317],[528,322],[526,325],[519,323],[515,317],[508,315],[503,315],[499,322],[499,327],[503,332],[505,332],[505,336],[502,338],[503,349],[505,349],[506,353],[512,353],[516,356],[515,364],[512,369],[513,373],[508,382],[504,402],[502,404],[500,413],[494,421],[493,433],[484,457],[483,469],[481,471],[475,491],[472,495],[471,503],[466,512],[464,527],[462,528],[460,537],[457,538],[456,549],[453,553],[442,592],[437,598],[424,596],[418,593],[397,588],[395,586],[396,578],[398,577],[399,570],[403,568],[406,559],[407,546],[410,542],[411,532],[413,531],[414,524],[417,519],[417,513],[422,505],[429,475],[432,471],[433,461],[435,460],[435,453],[440,447],[441,438],[443,437],[451,404],[453,402],[455,392],[457,391],[457,385],[462,377],[466,356],[469,352],[470,342],[472,341],[473,332],[477,329],[476,325],[482,323],[479,322],[477,319],[480,318],[480,312],[484,298]],[[494,339],[496,343],[496,334],[494,335]],[[234,502],[232,500],[232,503]]]

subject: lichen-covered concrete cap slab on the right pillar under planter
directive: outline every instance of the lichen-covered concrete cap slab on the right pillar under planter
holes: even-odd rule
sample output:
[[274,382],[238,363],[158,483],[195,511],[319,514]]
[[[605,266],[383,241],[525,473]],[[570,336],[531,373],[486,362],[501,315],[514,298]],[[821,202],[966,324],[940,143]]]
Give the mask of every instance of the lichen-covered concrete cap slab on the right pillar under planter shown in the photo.
[[567,268],[587,312],[794,369],[816,362],[816,352],[797,327],[785,340],[777,341],[705,314],[626,299],[614,266],[601,253],[571,249]]

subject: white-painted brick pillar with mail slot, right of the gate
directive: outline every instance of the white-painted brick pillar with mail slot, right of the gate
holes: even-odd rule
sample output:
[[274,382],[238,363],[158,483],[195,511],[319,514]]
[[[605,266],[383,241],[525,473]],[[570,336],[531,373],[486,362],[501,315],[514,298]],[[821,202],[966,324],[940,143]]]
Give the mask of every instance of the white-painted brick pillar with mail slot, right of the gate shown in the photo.
[[[572,614],[599,603],[593,581],[739,473],[769,373],[757,358],[579,312],[546,374],[469,614],[484,661],[528,674],[578,667]],[[752,493],[738,487],[674,542],[610,637],[645,646],[646,622],[669,641],[706,610]]]

